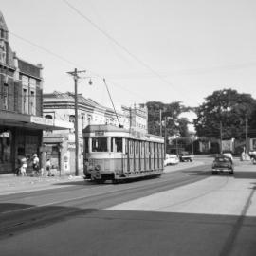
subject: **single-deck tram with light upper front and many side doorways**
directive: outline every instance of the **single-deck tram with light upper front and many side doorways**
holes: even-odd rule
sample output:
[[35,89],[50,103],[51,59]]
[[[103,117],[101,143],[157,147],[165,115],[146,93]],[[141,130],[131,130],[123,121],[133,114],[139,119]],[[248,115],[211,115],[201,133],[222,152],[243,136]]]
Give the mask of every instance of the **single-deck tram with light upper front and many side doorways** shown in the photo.
[[116,183],[163,173],[163,137],[141,135],[110,124],[88,125],[82,136],[86,179]]

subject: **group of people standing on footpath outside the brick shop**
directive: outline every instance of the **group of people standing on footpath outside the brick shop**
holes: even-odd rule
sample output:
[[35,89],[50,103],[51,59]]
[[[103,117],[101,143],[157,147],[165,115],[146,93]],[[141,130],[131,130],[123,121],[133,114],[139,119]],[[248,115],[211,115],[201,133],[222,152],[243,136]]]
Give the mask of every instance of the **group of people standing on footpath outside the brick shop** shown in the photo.
[[[29,157],[21,156],[18,158],[18,168],[15,171],[15,174],[17,176],[27,176],[27,164],[32,164],[32,176],[43,176],[44,175],[44,169],[40,169],[40,160],[37,154],[32,155],[32,158],[29,159]],[[47,158],[46,160],[46,176],[53,176],[51,174],[51,162],[50,159]]]

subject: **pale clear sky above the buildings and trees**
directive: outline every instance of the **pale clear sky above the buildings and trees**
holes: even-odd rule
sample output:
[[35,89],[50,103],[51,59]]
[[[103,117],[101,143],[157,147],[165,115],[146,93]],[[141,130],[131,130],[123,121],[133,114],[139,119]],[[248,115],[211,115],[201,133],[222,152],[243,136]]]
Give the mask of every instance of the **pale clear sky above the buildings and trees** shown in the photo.
[[[44,92],[111,106],[198,106],[215,90],[256,98],[255,0],[0,0],[9,44],[44,66]],[[92,85],[88,84],[89,80]]]

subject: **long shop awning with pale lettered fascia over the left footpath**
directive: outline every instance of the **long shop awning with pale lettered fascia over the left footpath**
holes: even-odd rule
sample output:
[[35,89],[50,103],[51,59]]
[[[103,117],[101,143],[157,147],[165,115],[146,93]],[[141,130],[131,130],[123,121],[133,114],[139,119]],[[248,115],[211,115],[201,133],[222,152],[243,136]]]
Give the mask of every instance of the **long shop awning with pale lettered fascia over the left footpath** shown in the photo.
[[0,125],[39,130],[65,130],[74,128],[71,122],[0,111]]

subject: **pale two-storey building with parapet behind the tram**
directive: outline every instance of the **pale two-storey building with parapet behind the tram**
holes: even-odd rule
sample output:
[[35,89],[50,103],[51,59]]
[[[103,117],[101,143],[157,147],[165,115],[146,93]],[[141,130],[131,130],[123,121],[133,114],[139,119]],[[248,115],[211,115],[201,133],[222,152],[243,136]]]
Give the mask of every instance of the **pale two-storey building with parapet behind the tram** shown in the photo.
[[[47,119],[62,119],[75,122],[74,93],[53,92],[44,94],[44,117]],[[118,116],[118,119],[117,119]],[[85,99],[78,95],[78,134],[79,134],[79,169],[83,168],[83,140],[82,129],[88,124],[122,125],[131,129],[137,136],[148,132],[147,108],[140,105],[133,108],[121,106],[117,115],[113,109],[104,107],[96,101]],[[56,169],[63,170],[64,174],[75,172],[75,130],[46,131],[44,133],[47,157],[52,159]]]

